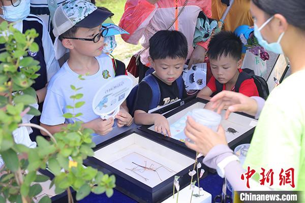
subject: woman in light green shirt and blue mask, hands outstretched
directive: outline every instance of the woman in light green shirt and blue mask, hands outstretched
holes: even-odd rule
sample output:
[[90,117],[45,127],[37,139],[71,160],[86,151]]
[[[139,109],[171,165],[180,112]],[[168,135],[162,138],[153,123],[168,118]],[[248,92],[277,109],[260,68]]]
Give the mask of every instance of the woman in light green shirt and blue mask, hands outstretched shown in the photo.
[[[249,169],[256,171],[250,189],[262,190],[260,180],[272,170],[274,182],[272,185],[265,182],[267,189],[305,190],[305,94],[302,84],[305,78],[305,1],[252,0],[251,13],[260,45],[268,51],[285,54],[292,74],[272,90],[264,105],[260,98],[231,91],[223,91],[211,99],[212,108],[219,113],[228,109],[226,118],[235,111],[256,117],[260,114],[243,164],[245,169],[229,149],[222,127],[216,133],[188,118],[185,133],[196,144],[186,142],[186,145],[201,152],[205,156],[203,162],[226,177],[234,190],[249,190],[246,179],[240,178]],[[265,177],[260,174],[261,168],[265,170]]]

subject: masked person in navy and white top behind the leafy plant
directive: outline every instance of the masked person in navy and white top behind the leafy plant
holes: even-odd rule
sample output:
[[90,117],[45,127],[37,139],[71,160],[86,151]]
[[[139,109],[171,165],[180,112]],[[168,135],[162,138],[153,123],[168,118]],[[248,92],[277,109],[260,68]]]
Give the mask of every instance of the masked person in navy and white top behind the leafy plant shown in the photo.
[[[55,59],[53,43],[51,41],[49,32],[42,20],[36,15],[29,13],[30,1],[29,0],[0,0],[0,23],[7,21],[14,23],[14,27],[21,32],[27,29],[36,29],[39,36],[35,42],[39,46],[38,52],[28,51],[28,56],[32,56],[39,61],[40,70],[37,72],[40,76],[35,79],[32,87],[36,90],[39,110],[42,110],[42,103],[46,95],[46,84],[50,78],[59,70],[59,65]],[[4,48],[0,44],[0,49]],[[39,117],[34,117],[32,123],[39,124]],[[36,136],[40,134],[39,130],[33,129],[31,139],[35,141]]]

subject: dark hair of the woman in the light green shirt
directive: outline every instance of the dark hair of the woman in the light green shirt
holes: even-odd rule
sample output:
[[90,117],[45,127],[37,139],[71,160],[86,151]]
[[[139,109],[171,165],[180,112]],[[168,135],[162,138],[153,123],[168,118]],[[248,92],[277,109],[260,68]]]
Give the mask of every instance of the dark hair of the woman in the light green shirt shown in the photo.
[[267,15],[281,14],[289,24],[305,30],[304,0],[252,0],[252,2]]

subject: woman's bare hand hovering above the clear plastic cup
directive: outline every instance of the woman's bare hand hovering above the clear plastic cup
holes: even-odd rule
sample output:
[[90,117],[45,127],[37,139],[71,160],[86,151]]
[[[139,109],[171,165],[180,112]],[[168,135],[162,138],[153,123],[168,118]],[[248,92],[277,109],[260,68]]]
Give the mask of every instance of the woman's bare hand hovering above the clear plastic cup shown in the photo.
[[223,109],[227,109],[225,119],[229,118],[231,112],[243,112],[252,116],[255,116],[257,112],[256,100],[237,92],[222,91],[210,101],[213,103],[211,108],[217,109],[219,114]]

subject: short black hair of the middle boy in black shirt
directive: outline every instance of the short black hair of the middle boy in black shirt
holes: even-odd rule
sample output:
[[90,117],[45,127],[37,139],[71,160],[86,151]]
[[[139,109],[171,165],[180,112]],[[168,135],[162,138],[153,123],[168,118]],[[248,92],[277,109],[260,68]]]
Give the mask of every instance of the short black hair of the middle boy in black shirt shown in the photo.
[[149,39],[149,56],[153,60],[167,57],[186,59],[188,56],[187,39],[180,31],[160,30]]

